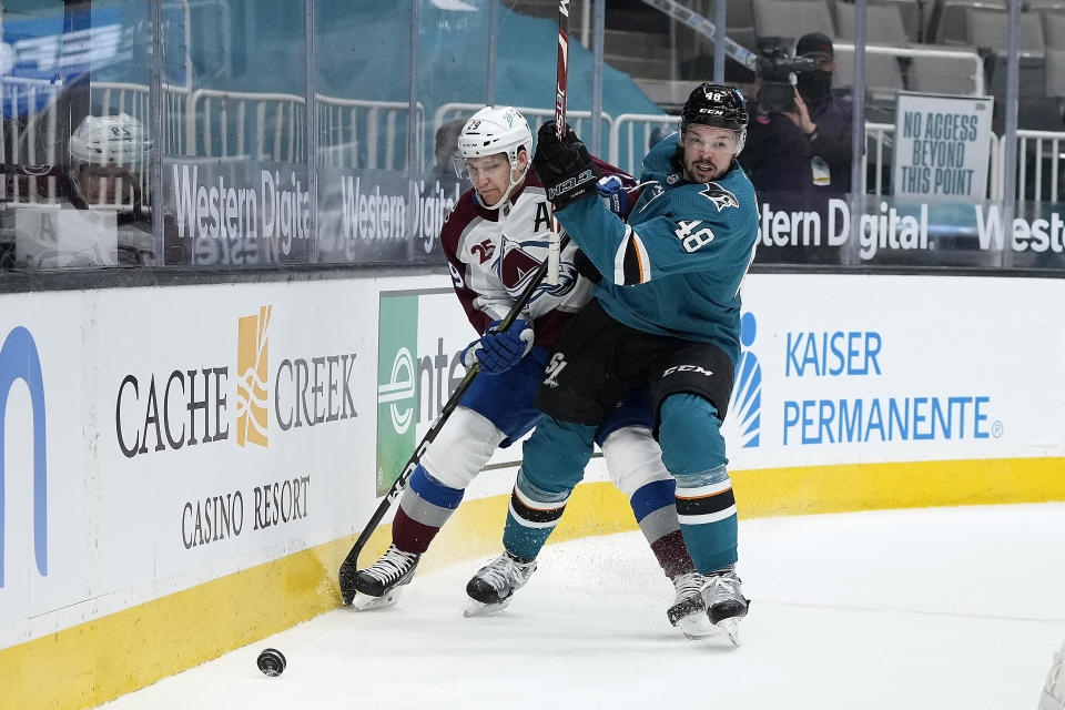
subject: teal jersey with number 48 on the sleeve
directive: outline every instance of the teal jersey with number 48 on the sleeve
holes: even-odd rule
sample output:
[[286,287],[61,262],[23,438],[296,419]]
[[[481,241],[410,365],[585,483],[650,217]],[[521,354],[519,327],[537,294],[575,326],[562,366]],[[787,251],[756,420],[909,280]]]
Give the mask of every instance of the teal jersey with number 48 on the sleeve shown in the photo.
[[648,184],[628,224],[602,200],[578,200],[556,216],[602,274],[595,296],[613,320],[712,343],[736,363],[740,284],[758,244],[754,187],[734,160],[716,182],[686,182],[672,161],[678,138],[643,160]]

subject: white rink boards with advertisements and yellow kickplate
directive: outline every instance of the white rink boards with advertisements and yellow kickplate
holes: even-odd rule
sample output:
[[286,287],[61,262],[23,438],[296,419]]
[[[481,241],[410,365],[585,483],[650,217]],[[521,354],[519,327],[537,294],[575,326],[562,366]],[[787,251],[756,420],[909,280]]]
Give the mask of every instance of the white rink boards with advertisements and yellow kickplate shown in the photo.
[[[741,516],[1065,499],[1065,282],[764,274],[743,297]],[[97,704],[336,606],[474,335],[446,275],[0,303],[3,707]],[[519,455],[427,567],[497,550]],[[595,460],[552,540],[635,527],[605,480]]]

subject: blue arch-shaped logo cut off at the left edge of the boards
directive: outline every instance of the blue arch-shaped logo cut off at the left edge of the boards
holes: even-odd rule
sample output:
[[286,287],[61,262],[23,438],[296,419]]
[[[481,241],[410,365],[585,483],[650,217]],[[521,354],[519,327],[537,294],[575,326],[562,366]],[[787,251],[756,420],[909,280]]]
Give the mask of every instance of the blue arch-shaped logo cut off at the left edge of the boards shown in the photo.
[[[30,389],[33,407],[33,556],[37,571],[48,575],[48,465],[44,446],[44,376],[33,336],[24,327],[12,329],[0,347],[0,588],[3,587],[4,416],[11,387],[21,379]],[[20,413],[21,414],[21,413]],[[19,416],[19,415],[16,415]]]

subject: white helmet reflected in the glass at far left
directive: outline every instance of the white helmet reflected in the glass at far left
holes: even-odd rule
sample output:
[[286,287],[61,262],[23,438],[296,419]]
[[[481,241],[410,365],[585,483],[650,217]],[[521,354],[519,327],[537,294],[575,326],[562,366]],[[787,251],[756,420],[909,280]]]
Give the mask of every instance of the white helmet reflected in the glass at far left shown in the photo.
[[[132,209],[139,202],[142,182],[146,180],[149,154],[154,141],[144,124],[128,113],[87,115],[70,135],[68,152],[75,189],[81,191],[81,172],[89,166],[112,169],[120,182],[128,182],[133,196],[125,197],[122,186],[120,209]],[[82,194],[82,197],[85,197]],[[87,200],[90,206],[92,201]],[[114,207],[114,204],[106,205]]]

